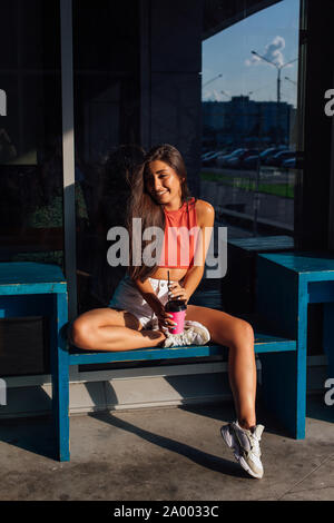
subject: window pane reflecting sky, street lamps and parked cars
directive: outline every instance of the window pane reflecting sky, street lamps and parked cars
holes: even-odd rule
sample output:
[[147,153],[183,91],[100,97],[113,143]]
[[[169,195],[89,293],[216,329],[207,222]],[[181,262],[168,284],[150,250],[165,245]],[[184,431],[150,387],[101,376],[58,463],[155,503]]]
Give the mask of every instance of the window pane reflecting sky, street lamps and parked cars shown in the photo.
[[205,10],[202,190],[230,239],[293,239],[299,0],[218,3]]

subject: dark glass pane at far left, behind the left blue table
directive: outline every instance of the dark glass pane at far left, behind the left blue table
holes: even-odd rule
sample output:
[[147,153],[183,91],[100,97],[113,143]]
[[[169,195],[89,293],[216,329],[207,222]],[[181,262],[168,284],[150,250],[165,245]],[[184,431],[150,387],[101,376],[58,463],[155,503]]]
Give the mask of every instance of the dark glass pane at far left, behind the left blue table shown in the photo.
[[[1,1],[0,89],[0,260],[63,268],[58,0]],[[48,371],[42,318],[0,328],[1,375]]]

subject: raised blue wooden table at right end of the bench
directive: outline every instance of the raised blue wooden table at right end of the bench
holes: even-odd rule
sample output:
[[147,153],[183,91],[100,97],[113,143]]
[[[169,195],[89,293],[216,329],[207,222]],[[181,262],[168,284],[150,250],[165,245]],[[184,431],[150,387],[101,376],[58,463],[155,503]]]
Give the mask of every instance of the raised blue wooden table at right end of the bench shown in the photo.
[[307,307],[323,305],[323,349],[334,377],[334,257],[326,253],[261,254],[257,258],[258,314],[296,339],[296,351],[262,358],[264,399],[305,437]]

